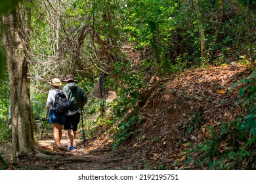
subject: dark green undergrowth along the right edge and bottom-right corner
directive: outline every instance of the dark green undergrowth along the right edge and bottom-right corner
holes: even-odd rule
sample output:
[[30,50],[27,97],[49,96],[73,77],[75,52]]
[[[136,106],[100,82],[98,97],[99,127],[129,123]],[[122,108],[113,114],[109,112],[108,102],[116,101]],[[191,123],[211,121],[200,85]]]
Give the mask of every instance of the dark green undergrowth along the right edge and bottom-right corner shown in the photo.
[[230,92],[242,85],[239,101],[243,107],[242,114],[231,122],[207,127],[209,136],[183,152],[187,159],[184,166],[190,163],[197,169],[256,169],[255,84],[254,71],[249,78],[239,80],[232,86]]

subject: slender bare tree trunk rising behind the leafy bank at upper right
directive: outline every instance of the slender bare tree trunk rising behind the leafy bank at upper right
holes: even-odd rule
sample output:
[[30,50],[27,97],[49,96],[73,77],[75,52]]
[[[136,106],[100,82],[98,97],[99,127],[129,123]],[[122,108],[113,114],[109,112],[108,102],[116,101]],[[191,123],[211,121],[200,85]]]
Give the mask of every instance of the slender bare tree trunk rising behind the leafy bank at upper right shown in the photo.
[[203,18],[200,12],[198,0],[193,0],[194,7],[196,9],[196,15],[198,16],[199,32],[200,32],[200,44],[201,44],[201,58],[205,57],[205,42],[204,42],[204,31],[203,31]]

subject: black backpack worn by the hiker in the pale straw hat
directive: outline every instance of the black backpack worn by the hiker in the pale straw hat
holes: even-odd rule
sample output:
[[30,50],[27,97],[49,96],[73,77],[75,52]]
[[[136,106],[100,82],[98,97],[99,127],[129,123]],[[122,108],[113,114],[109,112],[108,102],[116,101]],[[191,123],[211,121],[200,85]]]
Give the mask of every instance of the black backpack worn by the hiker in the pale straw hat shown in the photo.
[[57,114],[64,114],[68,110],[68,98],[66,97],[66,94],[64,92],[62,92],[61,90],[56,89],[53,110]]

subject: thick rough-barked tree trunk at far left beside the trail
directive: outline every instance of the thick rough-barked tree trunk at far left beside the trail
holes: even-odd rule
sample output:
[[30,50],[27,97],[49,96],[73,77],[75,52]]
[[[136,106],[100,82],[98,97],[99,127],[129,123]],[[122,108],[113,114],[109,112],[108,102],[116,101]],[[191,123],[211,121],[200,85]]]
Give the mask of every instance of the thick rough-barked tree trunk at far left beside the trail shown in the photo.
[[12,158],[16,162],[19,156],[35,149],[27,76],[28,59],[25,54],[26,41],[20,37],[20,21],[16,12],[3,16],[1,20],[11,89]]

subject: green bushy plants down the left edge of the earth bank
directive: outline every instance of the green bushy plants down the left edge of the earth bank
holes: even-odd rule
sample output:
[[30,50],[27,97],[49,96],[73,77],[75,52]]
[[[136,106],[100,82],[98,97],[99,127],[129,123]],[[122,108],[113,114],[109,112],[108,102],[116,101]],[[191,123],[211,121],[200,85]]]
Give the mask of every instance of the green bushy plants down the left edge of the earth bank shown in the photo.
[[[117,131],[114,134],[114,147],[121,144],[129,137],[133,137],[136,133],[136,126],[142,120],[139,116],[139,101],[141,101],[141,91],[144,86],[143,77],[131,69],[131,61],[129,63],[116,63],[114,65],[114,73],[119,76],[118,83],[116,80],[108,79],[107,87],[116,90],[117,98],[114,99],[113,118],[117,125]],[[119,86],[121,84],[121,87]]]

